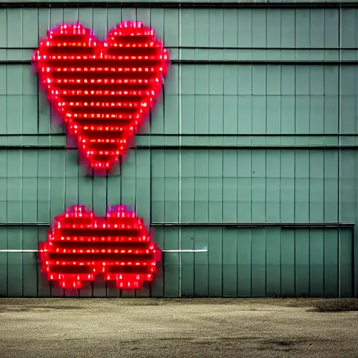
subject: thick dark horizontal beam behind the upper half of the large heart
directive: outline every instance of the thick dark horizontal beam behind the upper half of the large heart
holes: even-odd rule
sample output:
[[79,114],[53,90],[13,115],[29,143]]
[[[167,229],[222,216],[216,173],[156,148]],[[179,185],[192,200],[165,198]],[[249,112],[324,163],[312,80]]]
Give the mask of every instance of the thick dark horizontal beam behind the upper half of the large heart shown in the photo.
[[[255,59],[238,59],[238,60],[210,60],[210,59],[174,59],[171,61],[173,65],[221,65],[221,66],[238,66],[238,65],[273,65],[273,66],[344,66],[344,65],[356,65],[358,60],[346,60],[346,61],[292,61],[292,60],[255,60]],[[1,60],[0,65],[31,65],[29,59],[8,59]]]

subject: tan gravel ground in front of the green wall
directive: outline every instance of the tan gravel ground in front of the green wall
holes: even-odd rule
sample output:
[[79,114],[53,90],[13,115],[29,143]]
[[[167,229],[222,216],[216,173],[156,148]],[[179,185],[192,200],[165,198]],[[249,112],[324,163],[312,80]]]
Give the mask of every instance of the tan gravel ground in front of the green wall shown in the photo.
[[358,311],[320,301],[0,299],[0,357],[358,357]]

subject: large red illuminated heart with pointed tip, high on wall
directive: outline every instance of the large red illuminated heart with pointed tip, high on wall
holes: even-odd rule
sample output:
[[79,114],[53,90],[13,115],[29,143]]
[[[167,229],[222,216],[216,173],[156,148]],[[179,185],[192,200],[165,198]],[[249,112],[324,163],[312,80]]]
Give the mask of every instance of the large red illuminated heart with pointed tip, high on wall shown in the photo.
[[81,24],[62,24],[32,59],[90,167],[110,169],[162,90],[169,55],[153,29],[122,22],[103,43]]

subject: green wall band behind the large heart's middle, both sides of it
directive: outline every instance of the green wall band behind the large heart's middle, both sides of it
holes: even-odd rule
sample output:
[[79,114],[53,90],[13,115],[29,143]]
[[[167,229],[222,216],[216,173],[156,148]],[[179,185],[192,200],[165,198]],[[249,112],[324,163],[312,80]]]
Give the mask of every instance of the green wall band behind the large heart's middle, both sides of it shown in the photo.
[[[217,51],[221,51],[221,56],[215,57],[222,59],[222,50]],[[194,57],[189,59],[192,60]],[[280,56],[275,59],[280,60]],[[310,57],[307,59],[309,60]],[[16,55],[15,60],[22,60],[22,54]],[[347,69],[345,67],[343,69],[347,74],[342,72],[343,78],[356,76],[355,66],[345,66]],[[21,73],[24,73],[24,76],[21,76]],[[320,73],[320,76],[316,73]],[[31,77],[31,66],[27,64],[0,66],[0,76],[4,78],[3,83],[0,83],[0,87],[3,87],[0,92],[4,93],[0,94],[0,100],[3,108],[6,108],[4,113],[7,113],[6,121],[1,123],[3,133],[11,135],[63,133],[64,129],[59,125],[57,115],[48,108],[43,94],[38,96],[38,104],[36,103],[36,83]],[[336,65],[301,65],[296,66],[296,70],[294,66],[288,64],[285,66],[243,64],[238,66],[238,69],[232,65],[215,65],[213,69],[202,64],[185,65],[180,68],[182,91],[180,101],[178,77],[178,66],[172,65],[166,80],[165,101],[159,96],[158,106],[152,113],[152,127],[145,127],[146,133],[178,134],[180,120],[182,134],[237,133],[280,136],[280,134],[334,134],[338,130],[339,96],[336,90],[325,88],[339,87]],[[297,83],[296,87],[293,85],[293,88],[289,88],[292,87],[294,78],[303,78],[303,85]],[[31,88],[26,85],[31,82],[30,79],[34,83]],[[248,83],[252,83],[252,87]],[[310,88],[307,83],[314,83],[317,88]],[[273,89],[274,86],[280,88],[276,91]],[[22,90],[22,87],[29,87],[29,89]],[[352,122],[350,119],[350,110],[355,111],[354,103],[357,94],[352,94],[349,88],[347,91],[350,94],[341,96],[341,132],[352,134],[355,133],[355,121]],[[312,94],[308,95],[309,92]],[[45,145],[44,140],[45,138],[38,138],[36,143]],[[48,144],[55,145],[55,143],[54,138],[53,142],[51,140]]]

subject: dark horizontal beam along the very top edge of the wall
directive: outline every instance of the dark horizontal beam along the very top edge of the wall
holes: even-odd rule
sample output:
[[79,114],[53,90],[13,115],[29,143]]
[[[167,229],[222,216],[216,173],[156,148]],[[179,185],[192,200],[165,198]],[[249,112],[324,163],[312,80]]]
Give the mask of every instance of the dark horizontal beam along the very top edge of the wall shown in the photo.
[[118,2],[106,2],[106,1],[88,1],[88,2],[76,2],[76,1],[28,1],[28,2],[13,2],[4,1],[0,3],[0,8],[221,8],[221,9],[235,9],[235,8],[357,8],[358,3],[352,3],[348,1],[317,1],[317,2],[284,2],[270,1],[270,2],[206,2],[206,3],[194,3],[194,2],[152,2],[152,1],[118,1]]

